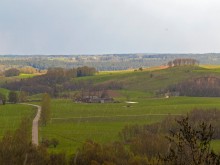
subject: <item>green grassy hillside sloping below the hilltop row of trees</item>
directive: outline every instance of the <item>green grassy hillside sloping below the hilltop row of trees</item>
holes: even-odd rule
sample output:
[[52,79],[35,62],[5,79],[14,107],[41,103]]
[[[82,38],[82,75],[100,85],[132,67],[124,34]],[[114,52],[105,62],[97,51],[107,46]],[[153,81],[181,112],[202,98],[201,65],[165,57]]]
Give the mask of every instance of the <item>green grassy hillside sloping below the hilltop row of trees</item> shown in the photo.
[[142,91],[155,94],[155,91],[177,84],[187,79],[213,75],[219,76],[220,68],[214,67],[173,67],[146,69],[143,71],[100,72],[95,76],[77,78],[75,81],[92,81],[95,84],[106,84],[111,81],[124,84],[125,90]]

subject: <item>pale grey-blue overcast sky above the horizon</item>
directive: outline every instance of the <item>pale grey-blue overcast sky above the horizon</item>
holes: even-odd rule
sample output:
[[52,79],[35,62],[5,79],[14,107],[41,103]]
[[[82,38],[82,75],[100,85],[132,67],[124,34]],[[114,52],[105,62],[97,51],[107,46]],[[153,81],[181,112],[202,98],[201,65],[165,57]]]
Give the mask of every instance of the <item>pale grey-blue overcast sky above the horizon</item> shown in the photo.
[[220,52],[219,0],[0,0],[0,54]]

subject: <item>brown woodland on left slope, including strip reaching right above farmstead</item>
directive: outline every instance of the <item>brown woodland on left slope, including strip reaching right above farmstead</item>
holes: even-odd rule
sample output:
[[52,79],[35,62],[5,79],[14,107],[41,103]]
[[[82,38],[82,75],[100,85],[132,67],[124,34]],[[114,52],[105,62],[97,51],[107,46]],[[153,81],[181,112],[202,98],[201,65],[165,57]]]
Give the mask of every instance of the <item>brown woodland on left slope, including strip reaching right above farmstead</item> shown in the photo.
[[95,68],[86,66],[72,69],[50,68],[44,75],[5,83],[2,87],[20,91],[23,94],[21,96],[25,96],[24,94],[49,93],[52,97],[58,97],[64,91],[98,92],[123,89],[124,83],[121,81],[109,80],[94,84],[91,80],[77,79],[77,77],[92,76],[96,72]]

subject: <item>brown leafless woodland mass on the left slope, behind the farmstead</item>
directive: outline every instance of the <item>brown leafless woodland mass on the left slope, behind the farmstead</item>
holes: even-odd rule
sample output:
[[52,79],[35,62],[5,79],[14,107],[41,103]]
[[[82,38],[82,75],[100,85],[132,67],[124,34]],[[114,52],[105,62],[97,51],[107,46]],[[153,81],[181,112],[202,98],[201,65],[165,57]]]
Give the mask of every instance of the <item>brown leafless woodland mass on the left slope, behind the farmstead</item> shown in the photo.
[[77,77],[92,76],[96,72],[95,68],[87,66],[72,69],[50,68],[44,75],[5,83],[2,86],[13,91],[25,91],[29,94],[49,93],[56,97],[59,92],[65,89],[64,84],[74,82],[73,79]]

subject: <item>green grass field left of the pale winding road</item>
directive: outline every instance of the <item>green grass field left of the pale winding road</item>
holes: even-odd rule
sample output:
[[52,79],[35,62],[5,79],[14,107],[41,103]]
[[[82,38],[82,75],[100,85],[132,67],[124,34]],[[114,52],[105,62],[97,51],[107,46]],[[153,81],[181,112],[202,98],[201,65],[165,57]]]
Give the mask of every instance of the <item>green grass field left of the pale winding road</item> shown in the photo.
[[21,120],[33,118],[36,110],[27,105],[6,104],[0,105],[0,138],[7,131],[14,131],[19,127]]

